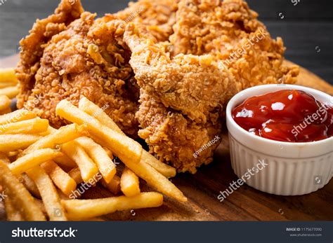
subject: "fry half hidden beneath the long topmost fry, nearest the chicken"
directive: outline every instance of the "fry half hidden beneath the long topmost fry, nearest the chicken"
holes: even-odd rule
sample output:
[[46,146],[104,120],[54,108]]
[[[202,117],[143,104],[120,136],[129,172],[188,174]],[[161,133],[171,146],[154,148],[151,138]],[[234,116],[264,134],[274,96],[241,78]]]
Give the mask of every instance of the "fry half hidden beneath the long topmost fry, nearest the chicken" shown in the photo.
[[[124,132],[122,132],[122,130],[110,118],[110,116],[107,116],[107,113],[105,113],[102,109],[100,109],[96,104],[89,101],[89,99],[87,99],[86,97],[83,97],[80,99],[79,109],[81,111],[88,113],[90,116],[93,116],[94,114],[98,114],[98,116],[96,116],[96,119],[100,123],[109,127],[110,129],[114,130],[115,132],[124,134]],[[166,164],[164,164],[164,162],[157,160],[153,155],[151,155],[147,151],[143,151],[141,161],[148,163],[148,165],[150,165],[151,167],[156,169],[159,173],[163,174],[167,178],[176,176],[176,169],[174,167],[166,165]]]

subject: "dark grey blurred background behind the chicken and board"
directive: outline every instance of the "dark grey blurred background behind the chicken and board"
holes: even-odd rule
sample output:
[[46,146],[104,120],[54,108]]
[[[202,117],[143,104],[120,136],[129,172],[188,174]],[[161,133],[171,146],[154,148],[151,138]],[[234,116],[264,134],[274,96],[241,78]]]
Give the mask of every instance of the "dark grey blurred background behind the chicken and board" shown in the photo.
[[[18,41],[37,18],[53,13],[60,0],[0,0],[0,57],[18,52]],[[129,1],[82,0],[86,11],[114,13]],[[332,0],[248,0],[273,37],[281,36],[286,58],[333,84]]]

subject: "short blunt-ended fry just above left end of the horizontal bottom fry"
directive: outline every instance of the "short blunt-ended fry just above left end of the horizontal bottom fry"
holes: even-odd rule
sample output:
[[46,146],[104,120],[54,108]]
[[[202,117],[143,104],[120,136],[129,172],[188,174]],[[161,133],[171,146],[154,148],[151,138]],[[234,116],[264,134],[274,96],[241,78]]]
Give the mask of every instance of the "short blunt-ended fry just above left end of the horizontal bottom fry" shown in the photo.
[[63,171],[55,162],[48,161],[41,164],[41,167],[45,170],[52,181],[65,195],[70,195],[72,190],[77,188],[77,183],[70,177],[69,174]]

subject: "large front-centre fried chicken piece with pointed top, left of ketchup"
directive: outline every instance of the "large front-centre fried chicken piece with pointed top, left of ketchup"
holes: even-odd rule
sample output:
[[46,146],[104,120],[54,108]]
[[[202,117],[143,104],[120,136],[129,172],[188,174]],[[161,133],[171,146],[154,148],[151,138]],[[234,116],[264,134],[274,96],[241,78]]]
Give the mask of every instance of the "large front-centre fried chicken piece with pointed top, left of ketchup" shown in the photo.
[[124,41],[141,87],[139,136],[159,160],[171,162],[178,172],[195,173],[212,160],[218,143],[193,154],[219,136],[223,104],[237,92],[235,80],[210,55],[171,57],[164,43],[156,43],[133,23],[127,25]]

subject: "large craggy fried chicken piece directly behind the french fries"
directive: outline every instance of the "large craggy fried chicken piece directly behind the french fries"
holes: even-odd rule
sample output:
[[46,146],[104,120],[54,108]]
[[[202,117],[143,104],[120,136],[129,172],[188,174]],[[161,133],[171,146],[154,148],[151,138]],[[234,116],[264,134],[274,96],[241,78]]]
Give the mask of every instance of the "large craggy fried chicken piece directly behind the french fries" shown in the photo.
[[[84,96],[98,104],[126,134],[136,137],[138,86],[129,65],[131,53],[122,48],[122,38],[117,41],[122,35],[118,32],[121,22],[95,23],[94,18],[91,13],[82,13],[44,44],[34,82],[31,88],[21,90],[19,104],[60,127],[66,121],[55,115],[58,102],[67,99],[77,105]],[[25,82],[20,79],[23,85]]]

